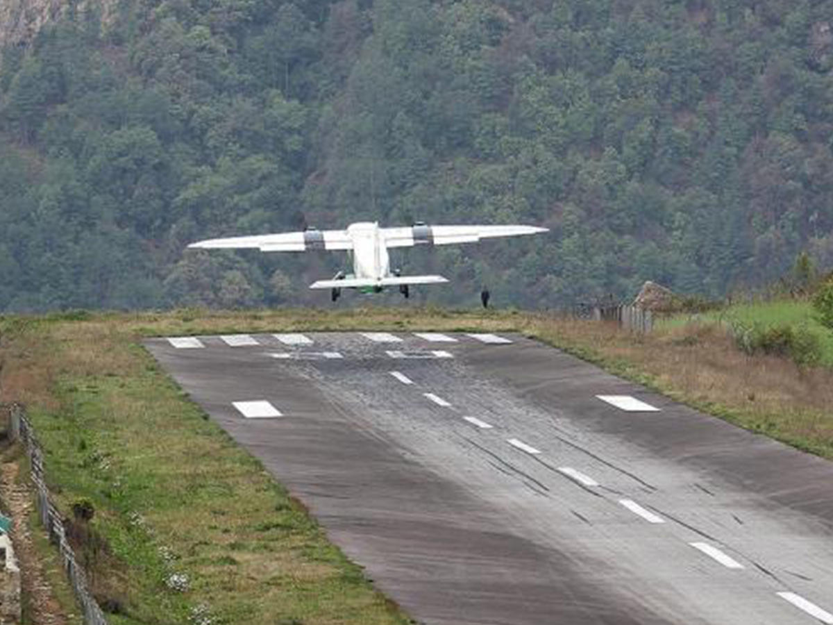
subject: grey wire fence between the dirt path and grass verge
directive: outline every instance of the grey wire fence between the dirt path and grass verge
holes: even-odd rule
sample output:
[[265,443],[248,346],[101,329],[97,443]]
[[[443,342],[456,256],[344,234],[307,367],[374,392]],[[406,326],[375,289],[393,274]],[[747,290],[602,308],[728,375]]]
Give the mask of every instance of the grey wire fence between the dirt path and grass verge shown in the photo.
[[37,443],[32,423],[26,416],[22,406],[13,404],[9,414],[9,433],[12,441],[20,440],[26,448],[29,462],[32,465],[32,483],[37,491],[37,512],[40,514],[43,527],[46,527],[50,541],[57,544],[61,552],[63,570],[67,573],[75,597],[81,605],[84,622],[87,625],[107,625],[104,613],[87,587],[87,576],[83,568],[75,560],[75,552],[67,542],[67,533],[63,527],[61,513],[52,498],[49,497],[47,485],[43,479],[43,452]]

